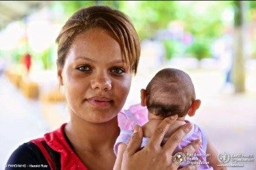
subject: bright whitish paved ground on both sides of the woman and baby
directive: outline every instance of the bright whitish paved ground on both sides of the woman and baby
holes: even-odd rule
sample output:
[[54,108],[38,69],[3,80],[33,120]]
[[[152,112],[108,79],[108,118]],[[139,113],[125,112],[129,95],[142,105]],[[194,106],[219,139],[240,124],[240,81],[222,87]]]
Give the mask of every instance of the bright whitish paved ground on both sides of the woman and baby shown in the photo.
[[[232,95],[229,89],[222,88],[221,72],[188,72],[195,84],[197,98],[202,100],[197,114],[189,119],[204,127],[219,152],[256,156],[255,72],[249,72],[246,79],[249,90],[243,95]],[[133,79],[127,105],[140,100],[139,89],[145,87],[153,73],[155,71]],[[50,129],[50,125],[44,119],[42,105],[25,99],[3,75],[0,77],[0,107],[0,169],[3,169],[7,158],[16,147],[22,142],[41,136]],[[60,108],[57,110],[61,112]],[[229,169],[256,169],[256,162],[243,164],[243,168]]]

